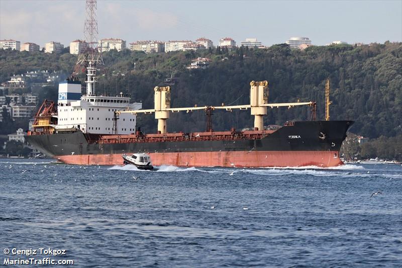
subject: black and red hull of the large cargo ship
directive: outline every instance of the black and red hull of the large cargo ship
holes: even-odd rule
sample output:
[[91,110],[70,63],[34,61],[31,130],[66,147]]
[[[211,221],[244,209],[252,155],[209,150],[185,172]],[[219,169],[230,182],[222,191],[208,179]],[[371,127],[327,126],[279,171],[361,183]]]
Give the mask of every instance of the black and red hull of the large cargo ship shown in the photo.
[[[329,167],[343,164],[339,149],[352,124],[352,121],[294,122],[260,139],[102,143],[88,140],[87,134],[79,132],[26,138],[40,151],[68,164],[123,164],[122,154],[146,152],[153,165]],[[325,139],[320,133],[325,134]]]

